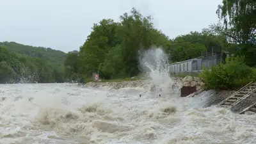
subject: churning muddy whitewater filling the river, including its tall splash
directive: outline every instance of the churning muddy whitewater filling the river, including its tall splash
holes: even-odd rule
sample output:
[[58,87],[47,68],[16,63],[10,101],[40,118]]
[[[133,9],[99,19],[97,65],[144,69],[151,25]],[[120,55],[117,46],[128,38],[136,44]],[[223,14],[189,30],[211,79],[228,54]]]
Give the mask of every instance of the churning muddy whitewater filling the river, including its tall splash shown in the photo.
[[[148,53],[161,57],[163,51]],[[255,115],[204,108],[211,91],[180,98],[179,86],[173,88],[148,58],[141,57],[141,69],[150,75],[143,88],[1,84],[0,143],[256,143]]]

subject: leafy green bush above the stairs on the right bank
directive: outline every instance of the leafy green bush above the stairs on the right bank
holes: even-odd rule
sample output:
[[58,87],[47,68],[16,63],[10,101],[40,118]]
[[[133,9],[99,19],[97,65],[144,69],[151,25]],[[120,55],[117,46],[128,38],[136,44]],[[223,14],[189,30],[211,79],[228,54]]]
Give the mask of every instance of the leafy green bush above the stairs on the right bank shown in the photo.
[[243,57],[231,57],[211,70],[204,68],[200,76],[208,89],[234,90],[254,81],[255,74],[255,68],[246,65]]

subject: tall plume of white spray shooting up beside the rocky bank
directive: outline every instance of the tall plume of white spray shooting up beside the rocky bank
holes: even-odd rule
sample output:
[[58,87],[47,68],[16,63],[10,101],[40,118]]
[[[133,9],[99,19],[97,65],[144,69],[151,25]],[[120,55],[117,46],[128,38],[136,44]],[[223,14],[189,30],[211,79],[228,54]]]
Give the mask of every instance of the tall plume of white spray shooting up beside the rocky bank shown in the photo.
[[170,95],[174,84],[168,72],[168,55],[161,48],[151,48],[141,52],[140,70],[151,80],[150,90],[162,95]]

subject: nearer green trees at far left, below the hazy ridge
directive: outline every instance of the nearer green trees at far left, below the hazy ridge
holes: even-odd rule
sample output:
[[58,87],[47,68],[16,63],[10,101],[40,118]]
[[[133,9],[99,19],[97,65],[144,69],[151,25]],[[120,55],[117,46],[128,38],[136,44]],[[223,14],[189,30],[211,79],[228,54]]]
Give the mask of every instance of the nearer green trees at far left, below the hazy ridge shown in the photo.
[[63,83],[64,68],[0,47],[0,83]]

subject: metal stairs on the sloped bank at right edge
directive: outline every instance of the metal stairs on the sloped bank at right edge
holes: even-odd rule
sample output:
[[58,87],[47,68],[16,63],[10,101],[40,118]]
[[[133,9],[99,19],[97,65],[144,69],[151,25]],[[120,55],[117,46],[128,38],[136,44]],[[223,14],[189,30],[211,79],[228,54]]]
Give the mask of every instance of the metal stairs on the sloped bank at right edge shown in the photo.
[[230,109],[234,113],[256,112],[256,82],[246,84],[243,88],[221,101],[218,106]]

